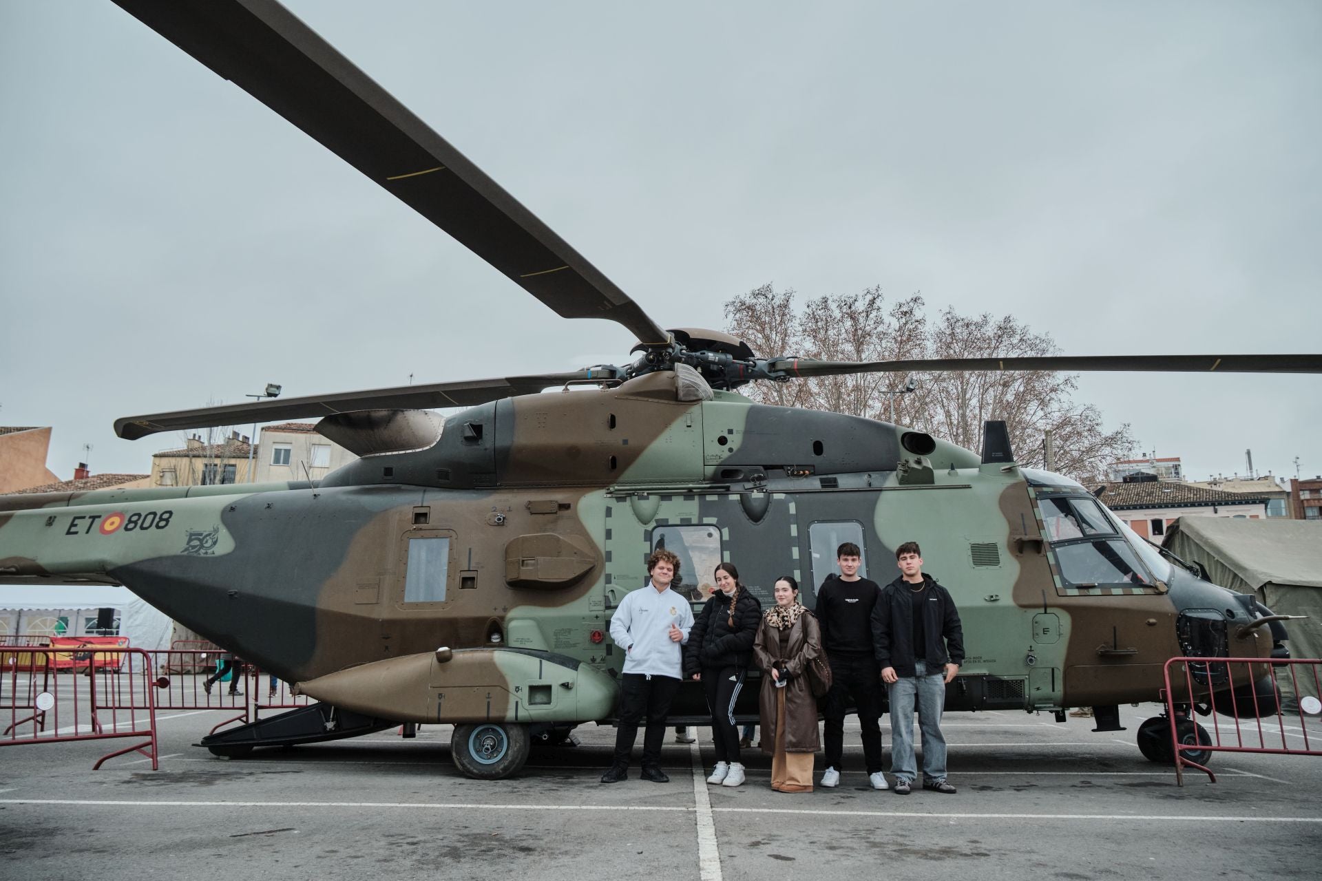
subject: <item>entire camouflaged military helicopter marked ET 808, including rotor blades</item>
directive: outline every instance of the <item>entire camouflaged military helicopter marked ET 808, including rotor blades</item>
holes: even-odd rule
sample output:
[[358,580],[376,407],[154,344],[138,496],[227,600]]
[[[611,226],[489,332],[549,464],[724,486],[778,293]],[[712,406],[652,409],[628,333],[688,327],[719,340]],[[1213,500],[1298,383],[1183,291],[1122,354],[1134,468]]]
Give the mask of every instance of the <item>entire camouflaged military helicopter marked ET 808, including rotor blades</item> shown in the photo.
[[[680,555],[695,604],[714,565],[734,560],[764,604],[789,572],[812,606],[839,543],[859,544],[863,572],[884,581],[892,549],[920,542],[965,622],[952,711],[1063,721],[1093,707],[1096,730],[1122,730],[1118,705],[1157,700],[1171,656],[1286,654],[1278,616],[1144,543],[1081,485],[1021,468],[1001,423],[977,454],[902,425],[755,404],[739,388],[865,371],[1319,372],[1322,355],[855,363],[662,329],[279,4],[116,3],[557,314],[615,321],[639,341],[620,366],[115,423],[140,439],[317,416],[361,457],[317,482],[0,498],[0,581],[123,584],[317,701],[210,736],[213,753],[452,722],[464,774],[514,774],[534,740],[611,721],[623,658],[609,618],[661,546]],[[453,407],[467,409],[430,412]],[[751,716],[755,689],[746,696]],[[1235,705],[1266,713],[1274,701]],[[697,689],[681,692],[680,716],[698,721],[701,708]],[[1188,708],[1178,722],[1187,742],[1204,736]],[[1170,761],[1166,724],[1138,730],[1155,761]]]

